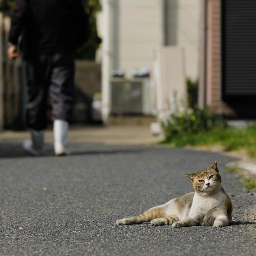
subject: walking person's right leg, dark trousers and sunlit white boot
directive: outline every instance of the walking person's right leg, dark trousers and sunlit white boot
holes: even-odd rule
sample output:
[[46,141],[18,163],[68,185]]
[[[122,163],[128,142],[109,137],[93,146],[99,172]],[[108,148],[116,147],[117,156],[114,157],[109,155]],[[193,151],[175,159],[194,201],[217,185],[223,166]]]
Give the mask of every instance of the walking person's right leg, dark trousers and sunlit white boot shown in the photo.
[[68,122],[72,116],[74,94],[74,56],[55,54],[50,81],[52,119],[54,121],[54,150],[57,156],[66,155]]

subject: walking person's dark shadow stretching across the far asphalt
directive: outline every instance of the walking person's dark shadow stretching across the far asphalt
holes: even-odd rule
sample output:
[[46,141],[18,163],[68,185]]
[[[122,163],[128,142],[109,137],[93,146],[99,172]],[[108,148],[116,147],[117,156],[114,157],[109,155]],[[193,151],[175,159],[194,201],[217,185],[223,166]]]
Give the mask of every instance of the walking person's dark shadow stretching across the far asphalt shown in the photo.
[[[72,149],[73,147],[73,149]],[[78,148],[72,145],[70,156],[78,156],[78,155],[100,155],[100,154],[134,154],[134,153],[142,153],[146,151],[151,151],[152,148],[111,148],[110,149],[99,149],[99,150],[91,150],[90,146],[87,145],[88,150],[84,148]],[[75,149],[76,148],[76,149]],[[52,145],[46,144],[44,152],[41,156],[38,157],[53,157],[54,150]],[[24,151],[22,145],[16,143],[0,143],[0,158],[22,158],[22,157],[35,157],[30,153]]]

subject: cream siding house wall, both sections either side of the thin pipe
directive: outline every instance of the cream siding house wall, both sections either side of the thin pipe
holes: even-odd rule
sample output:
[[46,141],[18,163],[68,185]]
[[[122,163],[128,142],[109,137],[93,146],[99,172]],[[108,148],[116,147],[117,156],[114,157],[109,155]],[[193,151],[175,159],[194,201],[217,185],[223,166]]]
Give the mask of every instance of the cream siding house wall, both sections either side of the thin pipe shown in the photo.
[[[113,68],[148,67],[162,45],[161,0],[113,0]],[[186,76],[198,76],[200,0],[166,0],[166,45],[185,49]]]

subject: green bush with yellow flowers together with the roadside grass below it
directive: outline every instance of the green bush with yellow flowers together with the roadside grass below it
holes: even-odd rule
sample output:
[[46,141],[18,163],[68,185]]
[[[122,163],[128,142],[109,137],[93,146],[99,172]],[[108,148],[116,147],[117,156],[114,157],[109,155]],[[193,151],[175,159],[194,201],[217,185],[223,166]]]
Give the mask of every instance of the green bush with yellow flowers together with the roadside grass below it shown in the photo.
[[[162,123],[165,140],[161,143],[173,146],[201,146],[220,144],[225,151],[245,149],[249,156],[256,157],[256,125],[232,129],[227,122],[213,115],[209,108],[192,113],[172,114]],[[232,171],[232,170],[228,170]]]

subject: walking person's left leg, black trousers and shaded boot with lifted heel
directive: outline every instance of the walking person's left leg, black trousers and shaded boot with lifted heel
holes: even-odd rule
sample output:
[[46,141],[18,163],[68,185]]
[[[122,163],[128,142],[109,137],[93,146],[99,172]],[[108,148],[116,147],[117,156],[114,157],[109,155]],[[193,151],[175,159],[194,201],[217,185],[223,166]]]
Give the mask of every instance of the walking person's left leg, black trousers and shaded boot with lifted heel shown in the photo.
[[47,94],[46,83],[47,61],[27,61],[26,79],[28,102],[26,106],[26,124],[31,131],[31,140],[24,141],[23,147],[33,155],[39,155],[44,145],[44,129],[47,127]]

